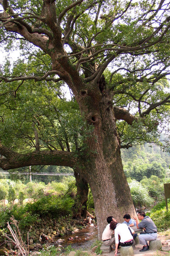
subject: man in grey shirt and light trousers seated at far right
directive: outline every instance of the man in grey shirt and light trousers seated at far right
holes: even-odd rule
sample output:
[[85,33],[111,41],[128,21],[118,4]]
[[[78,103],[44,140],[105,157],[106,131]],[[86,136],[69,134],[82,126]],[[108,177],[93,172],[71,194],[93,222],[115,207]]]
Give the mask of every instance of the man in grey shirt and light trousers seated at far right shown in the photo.
[[[157,227],[149,216],[146,216],[143,211],[138,212],[138,217],[136,219],[136,226],[138,229],[144,229],[145,233],[140,233],[138,235],[139,241],[143,244],[143,249],[139,250],[144,252],[149,250],[147,241],[152,241],[157,239]],[[141,222],[139,222],[141,220]]]

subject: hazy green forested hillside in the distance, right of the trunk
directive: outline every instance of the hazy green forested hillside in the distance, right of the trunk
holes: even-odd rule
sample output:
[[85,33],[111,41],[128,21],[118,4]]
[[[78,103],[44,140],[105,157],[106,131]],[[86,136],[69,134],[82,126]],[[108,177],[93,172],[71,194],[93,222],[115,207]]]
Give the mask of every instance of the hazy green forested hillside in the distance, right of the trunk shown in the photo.
[[127,177],[140,181],[143,176],[169,176],[170,154],[163,152],[157,145],[147,143],[144,146],[121,149],[121,157]]

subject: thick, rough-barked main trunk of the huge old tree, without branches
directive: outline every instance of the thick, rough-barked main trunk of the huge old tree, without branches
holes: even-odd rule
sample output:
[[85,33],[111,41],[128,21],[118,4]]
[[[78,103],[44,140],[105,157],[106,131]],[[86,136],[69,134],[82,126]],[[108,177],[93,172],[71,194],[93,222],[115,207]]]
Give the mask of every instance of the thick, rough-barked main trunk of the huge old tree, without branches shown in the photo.
[[103,95],[96,109],[91,109],[94,131],[87,139],[89,150],[79,162],[79,166],[85,163],[82,173],[93,194],[99,239],[108,216],[122,222],[126,213],[136,215],[121,162],[114,112],[112,107],[108,108],[109,102],[108,96]]

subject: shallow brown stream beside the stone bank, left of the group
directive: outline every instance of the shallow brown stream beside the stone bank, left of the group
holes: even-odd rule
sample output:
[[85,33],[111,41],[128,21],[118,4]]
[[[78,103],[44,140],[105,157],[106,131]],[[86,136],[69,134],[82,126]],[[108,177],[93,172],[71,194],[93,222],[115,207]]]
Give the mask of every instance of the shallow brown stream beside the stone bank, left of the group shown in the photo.
[[[60,242],[60,240],[63,240]],[[71,245],[72,248],[78,250],[90,249],[93,242],[97,239],[97,225],[87,226],[84,229],[75,230],[74,234],[69,234],[56,239],[57,244],[61,244],[64,248]]]

